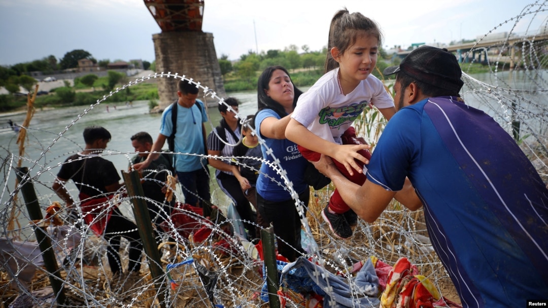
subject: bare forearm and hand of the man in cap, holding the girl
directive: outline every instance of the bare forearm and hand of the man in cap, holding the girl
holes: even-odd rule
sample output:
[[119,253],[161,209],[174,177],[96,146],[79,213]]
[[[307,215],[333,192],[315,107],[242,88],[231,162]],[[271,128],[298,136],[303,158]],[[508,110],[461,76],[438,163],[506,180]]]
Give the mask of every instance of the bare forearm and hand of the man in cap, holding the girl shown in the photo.
[[361,186],[352,183],[340,173],[333,161],[324,155],[312,164],[331,179],[345,203],[366,222],[372,223],[379,218],[392,199],[396,199],[409,210],[416,210],[422,205],[407,179],[402,190],[391,191],[367,180]]

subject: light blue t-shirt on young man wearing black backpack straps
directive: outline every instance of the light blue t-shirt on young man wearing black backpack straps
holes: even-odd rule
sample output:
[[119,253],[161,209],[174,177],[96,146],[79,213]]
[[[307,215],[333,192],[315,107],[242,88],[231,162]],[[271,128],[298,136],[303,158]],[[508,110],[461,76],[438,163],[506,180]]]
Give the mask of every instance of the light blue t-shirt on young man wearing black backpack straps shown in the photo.
[[[198,108],[196,104],[200,104]],[[170,104],[162,113],[160,133],[169,137],[172,134],[173,123],[172,107]],[[202,112],[200,112],[202,110]],[[191,108],[185,108],[177,104],[177,131],[175,133],[175,152],[206,154],[204,149],[204,137],[202,123],[207,122],[207,114],[202,101],[196,100]],[[203,168],[201,159],[196,155],[174,155],[175,170],[179,172],[196,171]],[[205,162],[204,162],[205,164]]]

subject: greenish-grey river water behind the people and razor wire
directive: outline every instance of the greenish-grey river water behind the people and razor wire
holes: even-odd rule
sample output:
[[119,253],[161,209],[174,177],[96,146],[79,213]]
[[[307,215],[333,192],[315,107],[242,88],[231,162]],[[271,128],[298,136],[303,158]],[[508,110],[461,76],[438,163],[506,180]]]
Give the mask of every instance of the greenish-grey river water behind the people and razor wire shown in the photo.
[[[475,74],[473,79],[465,79],[464,99],[467,104],[480,108],[501,123],[509,126],[512,119],[522,121],[522,130],[533,131],[538,135],[546,135],[546,125],[548,115],[546,106],[547,89],[545,71],[528,72],[503,72],[494,74]],[[486,83],[491,90],[486,90]],[[303,87],[302,90],[306,90]],[[512,90],[509,90],[512,89]],[[539,91],[540,90],[540,91]],[[241,102],[239,114],[246,116],[256,112],[256,92],[234,92],[230,96],[238,98]],[[515,111],[511,111],[510,101],[517,104]],[[107,107],[108,111],[107,111]],[[84,110],[88,108],[87,113]],[[124,103],[109,103],[108,100],[98,106],[89,109],[89,107],[66,107],[49,110],[37,110],[33,116],[30,128],[28,129],[28,140],[25,142],[25,153],[22,155],[25,160],[22,166],[32,169],[31,174],[35,176],[35,189],[38,195],[44,200],[42,204],[49,204],[51,201],[58,200],[50,189],[56,173],[59,171],[59,164],[62,163],[68,155],[74,154],[84,147],[82,131],[84,127],[90,125],[101,125],[112,134],[109,142],[106,159],[111,160],[118,170],[127,170],[128,161],[134,155],[130,136],[139,131],[149,132],[153,139],[156,139],[159,125],[160,114],[149,114],[148,101],[134,101],[133,106],[125,106]],[[212,125],[219,123],[220,115],[216,107],[208,108],[211,124],[206,124],[209,131]],[[0,210],[3,209],[9,200],[9,193],[15,187],[15,174],[9,171],[7,166],[16,166],[17,161],[13,161],[18,156],[18,146],[16,142],[16,133],[7,127],[8,120],[21,124],[25,118],[23,113],[11,113],[0,115],[0,158],[2,158],[2,196]],[[70,126],[65,131],[66,127]],[[508,128],[511,131],[511,128]],[[62,136],[60,136],[60,133]],[[167,144],[164,146],[167,148]],[[213,175],[213,173],[212,173]],[[218,189],[214,188],[215,181],[212,182],[213,201],[224,203],[226,197]],[[72,184],[71,184],[72,185]],[[76,191],[76,188],[73,188]]]

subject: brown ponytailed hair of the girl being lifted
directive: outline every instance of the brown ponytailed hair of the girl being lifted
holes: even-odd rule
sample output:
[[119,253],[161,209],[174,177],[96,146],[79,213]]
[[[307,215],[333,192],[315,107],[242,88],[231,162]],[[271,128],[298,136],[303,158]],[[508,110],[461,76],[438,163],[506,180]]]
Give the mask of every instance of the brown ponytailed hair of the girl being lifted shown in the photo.
[[364,31],[376,37],[379,40],[379,46],[382,46],[383,33],[376,22],[358,12],[350,14],[346,8],[335,13],[329,26],[325,73],[339,67],[339,62],[335,61],[331,55],[331,49],[336,47],[340,54],[344,54],[356,43],[358,31]]

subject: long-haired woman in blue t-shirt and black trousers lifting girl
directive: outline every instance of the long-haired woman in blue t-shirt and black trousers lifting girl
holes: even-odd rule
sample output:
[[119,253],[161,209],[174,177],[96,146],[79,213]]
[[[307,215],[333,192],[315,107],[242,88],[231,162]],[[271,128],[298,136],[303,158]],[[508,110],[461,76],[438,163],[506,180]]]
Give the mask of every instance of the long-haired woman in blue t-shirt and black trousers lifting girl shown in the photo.
[[[304,181],[306,160],[297,145],[286,139],[286,126],[290,114],[302,92],[293,86],[287,70],[281,66],[265,69],[258,83],[258,113],[255,127],[261,140],[262,157],[275,161],[286,171],[287,179],[299,195],[303,206],[301,215],[306,217],[306,207],[310,199],[309,185]],[[272,154],[270,151],[272,151]],[[305,253],[301,247],[301,220],[295,200],[292,199],[287,183],[273,167],[276,164],[262,164],[257,179],[257,205],[262,217],[272,223],[278,237],[278,253],[289,261],[295,261]]]

